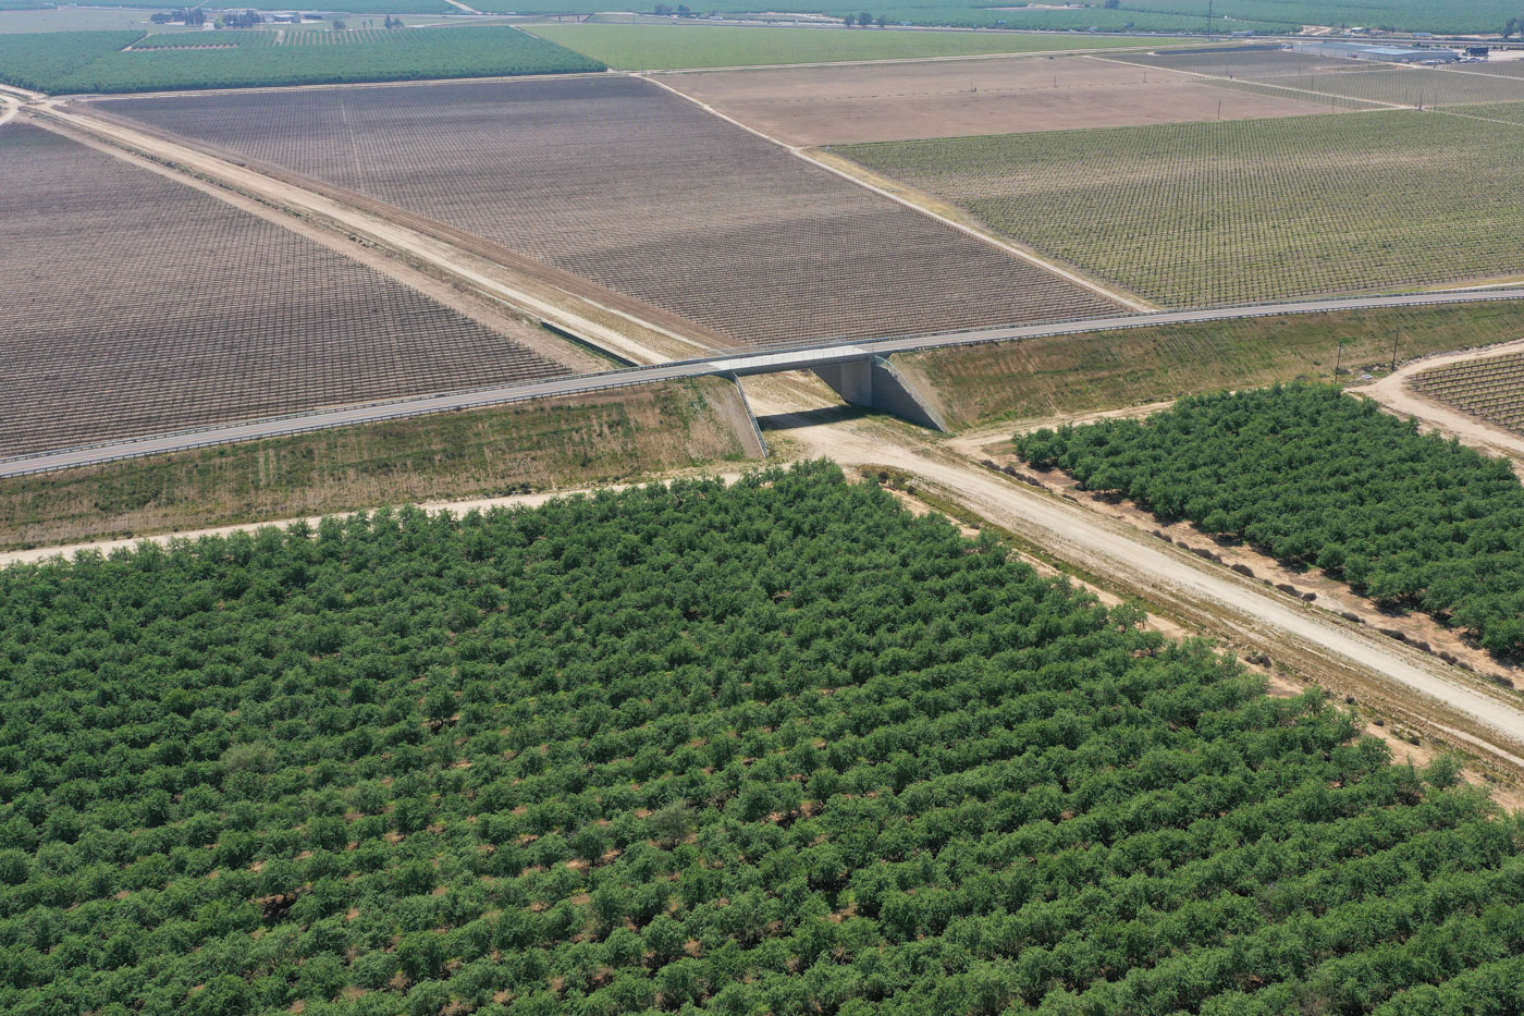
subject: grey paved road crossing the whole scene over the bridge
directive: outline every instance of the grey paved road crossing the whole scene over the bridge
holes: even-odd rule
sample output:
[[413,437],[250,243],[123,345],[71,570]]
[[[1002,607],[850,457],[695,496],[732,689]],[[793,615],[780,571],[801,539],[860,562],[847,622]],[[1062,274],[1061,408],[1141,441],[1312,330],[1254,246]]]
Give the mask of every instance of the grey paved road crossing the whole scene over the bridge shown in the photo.
[[26,473],[44,473],[52,470],[72,468],[78,465],[94,465],[116,459],[136,458],[142,455],[158,455],[163,452],[180,452],[210,444],[230,444],[235,441],[253,441],[258,438],[273,438],[303,430],[323,430],[328,427],[344,427],[351,424],[375,423],[379,420],[396,420],[401,416],[421,416],[425,413],[453,412],[475,409],[480,406],[501,406],[530,398],[550,398],[555,395],[575,395],[628,384],[646,384],[651,381],[671,381],[707,375],[748,375],[773,374],[777,371],[800,371],[831,363],[861,360],[869,355],[890,355],[895,352],[913,352],[919,349],[937,349],[946,346],[968,346],[986,342],[1013,342],[1020,339],[1039,339],[1045,336],[1064,336],[1081,331],[1111,331],[1117,328],[1143,328],[1149,325],[1181,325],[1213,320],[1242,320],[1245,317],[1273,317],[1279,314],[1312,314],[1324,311],[1372,310],[1382,307],[1416,307],[1434,304],[1477,304],[1487,301],[1524,299],[1524,287],[1507,287],[1492,290],[1468,290],[1460,293],[1414,293],[1407,296],[1359,296],[1323,301],[1295,301],[1282,304],[1259,304],[1254,307],[1225,307],[1213,310],[1192,311],[1160,311],[1151,314],[1119,314],[1114,317],[1094,317],[1087,320],[1065,320],[1050,325],[1023,325],[1015,328],[980,328],[974,331],[957,331],[936,336],[901,336],[876,339],[870,342],[852,343],[814,343],[796,348],[773,349],[736,349],[698,360],[677,360],[657,366],[628,368],[622,371],[605,371],[600,374],[581,374],[556,378],[550,381],[533,381],[524,384],[501,384],[466,392],[445,392],[421,398],[375,403],[366,406],[351,406],[346,409],[328,409],[294,416],[270,420],[255,420],[216,427],[203,427],[178,433],[157,435],[151,438],[116,441],[84,449],[47,452],[34,456],[0,459],[0,477],[23,476]]

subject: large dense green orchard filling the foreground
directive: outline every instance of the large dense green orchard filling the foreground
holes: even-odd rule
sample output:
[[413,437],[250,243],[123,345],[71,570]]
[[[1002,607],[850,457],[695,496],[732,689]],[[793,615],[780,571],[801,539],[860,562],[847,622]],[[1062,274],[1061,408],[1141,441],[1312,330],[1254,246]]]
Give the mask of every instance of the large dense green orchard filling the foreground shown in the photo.
[[[0,572],[11,1013],[1507,1011],[1524,827],[829,464]],[[1487,1008],[1490,1005],[1490,1008]]]

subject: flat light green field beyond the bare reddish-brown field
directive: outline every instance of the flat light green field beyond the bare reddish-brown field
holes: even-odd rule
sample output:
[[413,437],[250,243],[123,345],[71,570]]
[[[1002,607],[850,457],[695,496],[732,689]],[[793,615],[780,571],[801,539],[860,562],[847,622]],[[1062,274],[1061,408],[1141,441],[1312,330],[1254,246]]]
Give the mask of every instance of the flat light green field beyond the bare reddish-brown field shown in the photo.
[[1116,37],[1018,32],[902,32],[837,27],[725,27],[707,24],[535,24],[527,31],[610,67],[750,67],[895,56],[971,56],[1062,49],[1141,46]]

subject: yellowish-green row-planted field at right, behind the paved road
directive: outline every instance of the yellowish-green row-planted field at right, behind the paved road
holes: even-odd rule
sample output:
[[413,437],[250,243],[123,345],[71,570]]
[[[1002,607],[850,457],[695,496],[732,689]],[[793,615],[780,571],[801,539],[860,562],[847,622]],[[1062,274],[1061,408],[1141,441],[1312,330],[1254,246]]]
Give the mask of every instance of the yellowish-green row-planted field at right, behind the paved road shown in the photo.
[[837,150],[1167,305],[1524,272],[1524,131],[1410,110]]

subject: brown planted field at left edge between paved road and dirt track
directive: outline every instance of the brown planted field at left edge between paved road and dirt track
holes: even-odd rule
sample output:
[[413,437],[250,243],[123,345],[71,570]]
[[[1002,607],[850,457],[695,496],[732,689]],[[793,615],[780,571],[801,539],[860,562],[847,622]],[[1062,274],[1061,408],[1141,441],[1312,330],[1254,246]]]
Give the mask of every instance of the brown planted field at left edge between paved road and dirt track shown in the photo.
[[0,128],[0,456],[568,372],[41,128]]

